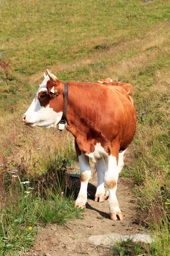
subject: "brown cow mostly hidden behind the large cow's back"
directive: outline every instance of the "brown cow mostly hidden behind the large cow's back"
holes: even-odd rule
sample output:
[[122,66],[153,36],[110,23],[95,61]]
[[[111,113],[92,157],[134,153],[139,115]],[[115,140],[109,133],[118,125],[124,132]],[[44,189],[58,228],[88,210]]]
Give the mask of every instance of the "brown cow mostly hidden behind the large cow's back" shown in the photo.
[[105,85],[109,85],[109,86],[113,85],[113,86],[120,86],[120,87],[124,88],[127,91],[131,102],[133,103],[133,87],[132,87],[132,84],[113,82],[113,80],[110,79],[110,78],[99,80],[99,81],[96,82],[96,84],[105,84]]

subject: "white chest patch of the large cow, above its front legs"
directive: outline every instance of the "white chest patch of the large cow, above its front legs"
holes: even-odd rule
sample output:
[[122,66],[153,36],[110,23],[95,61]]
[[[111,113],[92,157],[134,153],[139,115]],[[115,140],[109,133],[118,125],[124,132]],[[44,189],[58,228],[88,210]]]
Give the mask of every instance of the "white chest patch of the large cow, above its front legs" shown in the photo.
[[94,152],[85,155],[89,157],[92,163],[97,163],[102,157],[108,156],[108,153],[106,153],[100,143],[96,143]]

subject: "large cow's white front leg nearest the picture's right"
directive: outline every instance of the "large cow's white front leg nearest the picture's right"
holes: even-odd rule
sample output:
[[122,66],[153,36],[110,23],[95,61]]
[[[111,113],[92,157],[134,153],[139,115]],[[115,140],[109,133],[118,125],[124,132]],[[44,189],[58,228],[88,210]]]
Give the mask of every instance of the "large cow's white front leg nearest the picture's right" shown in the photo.
[[112,220],[122,220],[122,212],[119,208],[119,203],[116,198],[117,180],[121,172],[125,160],[125,151],[119,153],[119,161],[117,164],[116,157],[108,156],[107,170],[105,174],[105,183],[109,192],[109,210]]

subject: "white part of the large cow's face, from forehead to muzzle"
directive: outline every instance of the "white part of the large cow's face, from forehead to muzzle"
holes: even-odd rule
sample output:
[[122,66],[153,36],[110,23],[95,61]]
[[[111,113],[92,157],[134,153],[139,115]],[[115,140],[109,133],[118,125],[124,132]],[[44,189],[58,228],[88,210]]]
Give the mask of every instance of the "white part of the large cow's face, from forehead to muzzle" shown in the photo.
[[46,107],[40,105],[38,93],[41,91],[48,93],[46,88],[48,80],[49,77],[46,76],[42,84],[40,84],[40,87],[37,90],[36,96],[30,107],[23,115],[23,121],[31,127],[36,125],[44,128],[56,127],[62,118],[62,112],[55,112],[53,108],[49,107],[49,105]]

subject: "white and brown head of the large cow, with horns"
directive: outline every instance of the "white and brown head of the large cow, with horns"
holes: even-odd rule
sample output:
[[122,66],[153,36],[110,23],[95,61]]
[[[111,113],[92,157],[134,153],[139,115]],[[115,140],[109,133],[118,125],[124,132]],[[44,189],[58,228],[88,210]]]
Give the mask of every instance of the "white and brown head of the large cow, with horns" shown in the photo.
[[62,117],[64,84],[47,70],[30,107],[23,114],[23,122],[28,126],[44,128],[56,127]]

